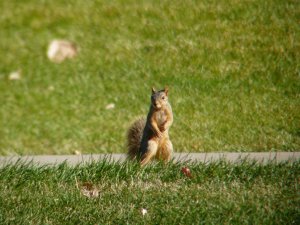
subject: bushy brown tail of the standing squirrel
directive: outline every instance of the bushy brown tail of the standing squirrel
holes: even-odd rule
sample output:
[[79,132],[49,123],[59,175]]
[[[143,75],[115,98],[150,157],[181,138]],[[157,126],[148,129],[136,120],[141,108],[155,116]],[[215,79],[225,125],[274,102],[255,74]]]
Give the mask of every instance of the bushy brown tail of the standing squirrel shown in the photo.
[[130,159],[135,159],[138,156],[145,125],[146,119],[139,118],[130,126],[127,132],[127,149]]

